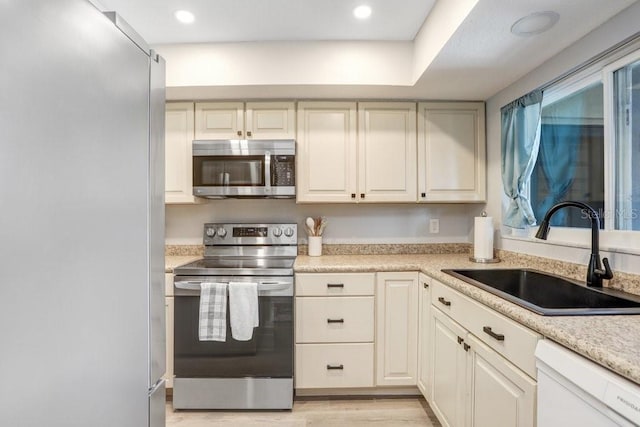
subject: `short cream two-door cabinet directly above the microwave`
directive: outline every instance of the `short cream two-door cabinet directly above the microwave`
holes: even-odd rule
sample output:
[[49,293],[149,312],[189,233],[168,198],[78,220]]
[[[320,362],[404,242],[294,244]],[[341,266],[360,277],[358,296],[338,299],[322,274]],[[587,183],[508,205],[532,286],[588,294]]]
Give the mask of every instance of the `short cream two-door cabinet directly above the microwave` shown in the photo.
[[295,103],[199,102],[195,126],[195,139],[295,139]]

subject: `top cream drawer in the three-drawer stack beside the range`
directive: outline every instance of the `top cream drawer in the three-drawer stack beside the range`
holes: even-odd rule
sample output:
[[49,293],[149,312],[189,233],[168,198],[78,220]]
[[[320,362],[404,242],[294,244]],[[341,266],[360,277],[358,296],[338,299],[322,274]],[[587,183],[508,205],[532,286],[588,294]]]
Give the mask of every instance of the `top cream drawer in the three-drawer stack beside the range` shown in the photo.
[[296,274],[297,296],[373,295],[374,273]]

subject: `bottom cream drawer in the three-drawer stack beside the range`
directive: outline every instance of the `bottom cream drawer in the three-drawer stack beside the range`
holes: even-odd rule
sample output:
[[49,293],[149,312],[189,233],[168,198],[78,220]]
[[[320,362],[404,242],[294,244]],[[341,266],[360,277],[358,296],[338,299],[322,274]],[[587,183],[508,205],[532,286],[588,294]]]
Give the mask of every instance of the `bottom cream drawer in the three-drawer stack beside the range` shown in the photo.
[[373,387],[373,343],[297,344],[296,388]]

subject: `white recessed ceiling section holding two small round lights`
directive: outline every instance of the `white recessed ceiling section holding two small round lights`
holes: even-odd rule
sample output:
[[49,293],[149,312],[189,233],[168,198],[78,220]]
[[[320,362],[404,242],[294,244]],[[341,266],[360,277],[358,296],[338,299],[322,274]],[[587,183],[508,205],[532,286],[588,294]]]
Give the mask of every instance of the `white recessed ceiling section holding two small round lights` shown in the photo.
[[[435,0],[98,0],[150,44],[274,40],[413,40]],[[373,12],[358,21],[352,11]],[[177,10],[195,15],[180,24]]]

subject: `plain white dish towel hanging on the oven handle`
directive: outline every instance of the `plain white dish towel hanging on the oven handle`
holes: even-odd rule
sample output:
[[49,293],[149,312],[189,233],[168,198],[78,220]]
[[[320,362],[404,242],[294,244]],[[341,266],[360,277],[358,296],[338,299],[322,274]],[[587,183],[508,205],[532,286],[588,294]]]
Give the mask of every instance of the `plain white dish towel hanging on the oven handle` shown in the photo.
[[231,336],[236,341],[249,341],[253,328],[260,324],[258,312],[258,284],[229,283],[229,321]]

